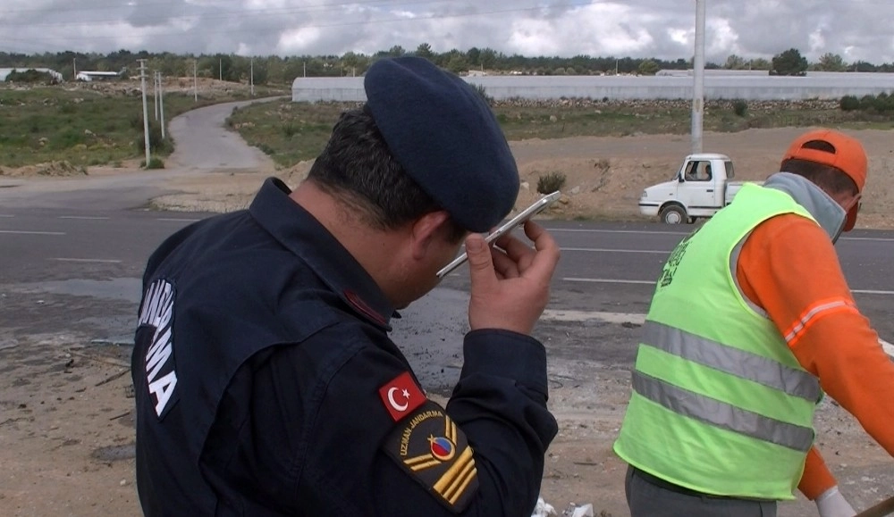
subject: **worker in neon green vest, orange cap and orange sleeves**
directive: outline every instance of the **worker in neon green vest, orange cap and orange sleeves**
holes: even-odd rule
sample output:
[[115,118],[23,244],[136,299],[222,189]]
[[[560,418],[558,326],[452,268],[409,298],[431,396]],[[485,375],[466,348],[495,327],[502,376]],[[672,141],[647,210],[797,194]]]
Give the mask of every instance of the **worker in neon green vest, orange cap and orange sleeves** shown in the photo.
[[866,172],[855,138],[808,131],[673,250],[614,443],[633,517],[775,515],[795,488],[822,517],[855,514],[812,422],[825,392],[894,455],[894,363],[833,247]]

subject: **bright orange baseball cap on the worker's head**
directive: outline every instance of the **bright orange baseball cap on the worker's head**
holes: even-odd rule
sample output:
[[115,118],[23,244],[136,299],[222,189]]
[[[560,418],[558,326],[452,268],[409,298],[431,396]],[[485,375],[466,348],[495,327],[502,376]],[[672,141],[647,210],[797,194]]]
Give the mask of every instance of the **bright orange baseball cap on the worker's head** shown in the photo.
[[[832,151],[816,149],[814,146],[805,147],[808,142],[816,141],[825,142],[832,147]],[[785,162],[791,158],[835,167],[854,180],[857,192],[863,192],[866,185],[867,159],[863,146],[856,138],[848,137],[834,129],[814,129],[796,138],[789,146],[785,156],[782,157],[782,161]],[[854,228],[856,213],[859,209],[859,204],[851,207],[844,225],[845,231]]]

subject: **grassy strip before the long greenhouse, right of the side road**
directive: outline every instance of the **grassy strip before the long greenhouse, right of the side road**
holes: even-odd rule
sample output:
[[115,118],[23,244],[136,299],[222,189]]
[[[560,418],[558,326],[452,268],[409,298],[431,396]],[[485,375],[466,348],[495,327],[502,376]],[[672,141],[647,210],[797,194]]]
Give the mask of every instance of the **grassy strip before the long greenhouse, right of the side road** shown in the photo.
[[[815,104],[815,105],[814,105]],[[704,131],[738,132],[751,128],[830,126],[848,129],[894,129],[894,117],[845,112],[837,103],[752,103],[742,110],[735,101],[705,105]],[[240,108],[228,126],[280,167],[313,160],[323,150],[345,103],[276,101]],[[687,101],[584,102],[557,105],[501,103],[493,112],[506,138],[625,137],[637,134],[687,135],[692,113]],[[741,114],[740,114],[741,113]]]

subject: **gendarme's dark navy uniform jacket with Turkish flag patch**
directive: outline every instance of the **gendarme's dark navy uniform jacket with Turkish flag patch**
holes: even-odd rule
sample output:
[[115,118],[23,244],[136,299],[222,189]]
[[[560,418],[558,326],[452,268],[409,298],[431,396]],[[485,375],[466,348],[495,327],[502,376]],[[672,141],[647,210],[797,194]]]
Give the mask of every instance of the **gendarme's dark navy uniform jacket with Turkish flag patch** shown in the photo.
[[446,410],[387,336],[373,279],[268,179],[168,238],[132,357],[147,515],[530,515],[544,451],[534,338],[465,338]]

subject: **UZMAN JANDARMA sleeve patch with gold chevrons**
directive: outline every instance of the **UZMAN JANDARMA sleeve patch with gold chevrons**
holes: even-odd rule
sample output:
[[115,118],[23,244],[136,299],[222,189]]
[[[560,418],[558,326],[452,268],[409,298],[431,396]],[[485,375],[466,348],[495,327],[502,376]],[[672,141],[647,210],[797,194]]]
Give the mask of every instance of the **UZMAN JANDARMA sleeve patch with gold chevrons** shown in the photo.
[[385,452],[451,512],[461,513],[478,491],[466,435],[443,408],[426,400],[392,430]]

